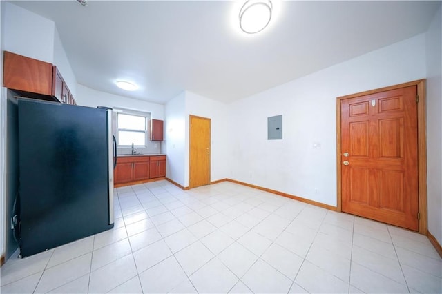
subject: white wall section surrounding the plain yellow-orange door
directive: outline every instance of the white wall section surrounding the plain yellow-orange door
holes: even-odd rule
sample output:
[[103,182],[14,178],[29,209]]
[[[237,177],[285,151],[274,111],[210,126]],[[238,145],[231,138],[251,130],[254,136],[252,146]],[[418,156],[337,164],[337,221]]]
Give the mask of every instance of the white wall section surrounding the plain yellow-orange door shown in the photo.
[[[186,91],[186,166],[189,166],[189,115],[211,119],[211,182],[227,177],[227,104]],[[189,186],[189,168],[186,168]]]

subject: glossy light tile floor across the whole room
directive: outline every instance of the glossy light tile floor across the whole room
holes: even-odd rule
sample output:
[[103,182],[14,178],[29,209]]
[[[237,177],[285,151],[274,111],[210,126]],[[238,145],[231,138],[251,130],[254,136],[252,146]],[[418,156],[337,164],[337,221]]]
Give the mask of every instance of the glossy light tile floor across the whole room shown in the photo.
[[115,189],[115,228],[1,268],[1,293],[442,293],[427,237],[222,182]]

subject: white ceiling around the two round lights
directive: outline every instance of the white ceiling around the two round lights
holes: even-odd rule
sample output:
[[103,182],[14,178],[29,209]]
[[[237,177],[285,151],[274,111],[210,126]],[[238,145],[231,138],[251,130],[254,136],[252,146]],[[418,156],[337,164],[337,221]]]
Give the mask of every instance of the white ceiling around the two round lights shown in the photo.
[[[165,103],[229,102],[425,32],[441,1],[276,1],[257,35],[242,1],[12,1],[55,22],[79,84]],[[118,79],[135,81],[135,92]]]

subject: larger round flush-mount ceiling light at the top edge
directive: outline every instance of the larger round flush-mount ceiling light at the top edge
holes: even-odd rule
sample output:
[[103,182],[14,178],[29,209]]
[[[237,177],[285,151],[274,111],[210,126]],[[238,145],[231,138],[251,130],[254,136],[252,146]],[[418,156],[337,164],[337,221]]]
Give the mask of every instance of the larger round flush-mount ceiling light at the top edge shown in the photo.
[[240,27],[247,34],[264,30],[271,19],[270,0],[248,0],[240,10]]

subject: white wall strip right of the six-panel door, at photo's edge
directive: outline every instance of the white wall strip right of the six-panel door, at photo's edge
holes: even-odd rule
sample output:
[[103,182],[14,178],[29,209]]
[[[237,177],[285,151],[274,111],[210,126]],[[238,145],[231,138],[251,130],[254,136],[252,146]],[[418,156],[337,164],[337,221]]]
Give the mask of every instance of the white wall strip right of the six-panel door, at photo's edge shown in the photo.
[[427,30],[428,231],[442,244],[442,17]]

